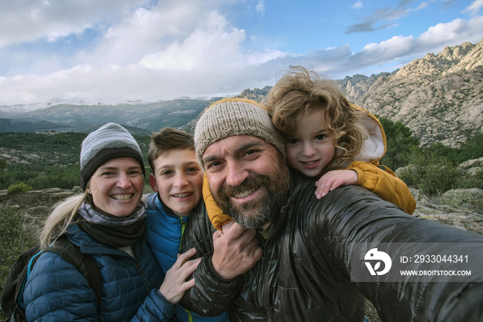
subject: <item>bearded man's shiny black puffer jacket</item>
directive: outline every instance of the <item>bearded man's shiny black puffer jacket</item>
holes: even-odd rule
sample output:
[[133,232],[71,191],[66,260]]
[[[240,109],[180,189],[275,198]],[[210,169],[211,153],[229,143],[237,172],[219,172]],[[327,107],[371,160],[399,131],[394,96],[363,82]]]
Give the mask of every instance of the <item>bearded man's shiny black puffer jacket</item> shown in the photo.
[[[353,243],[483,243],[483,235],[413,218],[360,187],[341,187],[317,200],[315,180],[292,179],[270,237],[259,238],[264,256],[232,281],[221,280],[211,265],[208,217],[190,218],[184,249],[196,247],[197,256],[206,256],[184,307],[207,315],[230,307],[230,321],[352,322],[364,319],[364,294],[383,321],[481,321],[483,283],[471,282],[483,281],[481,269],[468,283],[384,283],[384,276],[379,283],[352,283],[349,272]],[[466,252],[480,267],[482,249]]]

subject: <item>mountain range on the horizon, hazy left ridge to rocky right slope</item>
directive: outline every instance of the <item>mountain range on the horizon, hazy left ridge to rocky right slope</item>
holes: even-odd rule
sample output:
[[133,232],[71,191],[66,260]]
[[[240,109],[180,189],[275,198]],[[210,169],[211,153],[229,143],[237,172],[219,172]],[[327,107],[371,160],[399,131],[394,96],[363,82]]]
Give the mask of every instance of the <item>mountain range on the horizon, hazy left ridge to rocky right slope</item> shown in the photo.
[[[483,39],[428,53],[392,73],[353,75],[337,80],[349,101],[375,115],[408,126],[422,146],[442,142],[457,147],[483,132]],[[260,102],[270,86],[237,95]],[[182,97],[161,102],[66,101],[0,106],[1,132],[73,131],[89,133],[106,122],[149,134],[165,126],[193,131],[199,114],[221,97]]]

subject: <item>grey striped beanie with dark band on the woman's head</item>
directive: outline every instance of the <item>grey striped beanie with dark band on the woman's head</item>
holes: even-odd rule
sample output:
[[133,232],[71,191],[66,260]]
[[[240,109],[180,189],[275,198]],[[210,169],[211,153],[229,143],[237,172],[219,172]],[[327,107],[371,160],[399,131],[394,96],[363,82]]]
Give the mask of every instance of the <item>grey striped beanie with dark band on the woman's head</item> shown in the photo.
[[82,190],[86,190],[87,182],[101,164],[121,157],[131,157],[139,161],[146,176],[141,149],[124,127],[108,123],[87,135],[81,146]]

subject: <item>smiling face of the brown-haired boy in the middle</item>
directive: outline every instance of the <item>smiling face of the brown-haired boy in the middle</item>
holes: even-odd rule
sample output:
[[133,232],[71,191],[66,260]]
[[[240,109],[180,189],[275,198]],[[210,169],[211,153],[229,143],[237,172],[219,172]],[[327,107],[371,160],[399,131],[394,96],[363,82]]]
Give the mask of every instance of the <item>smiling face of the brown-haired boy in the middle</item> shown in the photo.
[[149,177],[152,190],[177,216],[189,216],[201,200],[204,172],[195,150],[174,149],[154,160]]

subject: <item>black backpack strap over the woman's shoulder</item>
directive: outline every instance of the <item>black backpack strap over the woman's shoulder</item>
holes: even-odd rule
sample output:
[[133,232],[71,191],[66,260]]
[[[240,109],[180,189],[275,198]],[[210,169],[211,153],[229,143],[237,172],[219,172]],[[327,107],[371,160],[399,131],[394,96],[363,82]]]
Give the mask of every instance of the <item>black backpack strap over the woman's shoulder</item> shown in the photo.
[[81,248],[70,240],[66,236],[60,236],[55,240],[55,243],[46,249],[46,252],[55,253],[70,264],[72,264],[87,280],[90,288],[94,290],[97,297],[97,309],[101,309],[102,299],[102,279],[101,271],[97,265],[92,254],[85,254],[81,252]]

